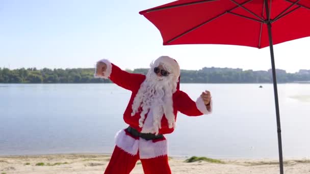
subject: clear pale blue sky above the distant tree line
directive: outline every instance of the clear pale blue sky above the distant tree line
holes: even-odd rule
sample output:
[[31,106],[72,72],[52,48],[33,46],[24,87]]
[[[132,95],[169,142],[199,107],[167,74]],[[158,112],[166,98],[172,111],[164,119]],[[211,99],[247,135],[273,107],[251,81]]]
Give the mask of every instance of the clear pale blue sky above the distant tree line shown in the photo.
[[[1,0],[0,67],[90,68],[105,58],[122,69],[135,69],[169,55],[181,69],[270,69],[268,47],[163,46],[157,28],[138,12],[169,2]],[[310,69],[309,46],[310,38],[275,45],[276,68]]]

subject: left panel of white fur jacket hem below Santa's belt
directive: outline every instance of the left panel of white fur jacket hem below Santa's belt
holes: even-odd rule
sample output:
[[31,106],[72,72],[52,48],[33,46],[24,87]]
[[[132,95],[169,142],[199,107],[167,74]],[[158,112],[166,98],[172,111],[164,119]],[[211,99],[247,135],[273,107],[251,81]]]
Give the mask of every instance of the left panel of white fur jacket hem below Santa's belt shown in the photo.
[[115,136],[116,146],[131,155],[138,154],[139,139],[126,135],[124,130],[117,132]]

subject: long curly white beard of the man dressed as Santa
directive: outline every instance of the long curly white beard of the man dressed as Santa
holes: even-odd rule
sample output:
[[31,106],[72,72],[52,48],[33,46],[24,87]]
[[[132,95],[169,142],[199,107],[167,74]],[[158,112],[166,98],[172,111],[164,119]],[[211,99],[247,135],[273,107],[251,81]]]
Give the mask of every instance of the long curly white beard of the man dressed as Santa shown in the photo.
[[[143,133],[158,134],[164,114],[168,120],[168,127],[175,127],[172,101],[172,94],[175,91],[176,81],[173,82],[171,76],[159,77],[152,72],[152,69],[148,71],[132,105],[132,116],[141,111],[139,127],[144,128],[143,125],[147,127],[143,129]],[[150,118],[145,120],[145,114]]]

